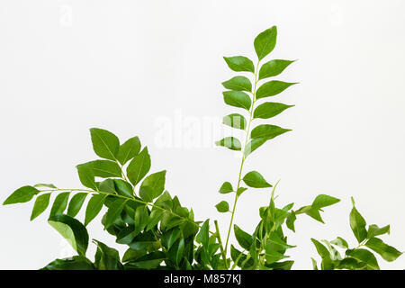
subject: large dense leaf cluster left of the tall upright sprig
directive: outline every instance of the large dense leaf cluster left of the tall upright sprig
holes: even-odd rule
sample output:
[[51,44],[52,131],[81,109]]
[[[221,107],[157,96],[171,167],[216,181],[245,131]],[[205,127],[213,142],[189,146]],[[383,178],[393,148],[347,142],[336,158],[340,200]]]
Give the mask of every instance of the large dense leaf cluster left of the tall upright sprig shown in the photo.
[[[33,220],[47,209],[50,195],[58,193],[50,208],[49,224],[67,238],[78,255],[57,259],[45,268],[192,269],[204,266],[194,261],[193,253],[201,222],[194,221],[193,210],[183,207],[176,196],[165,191],[166,171],[146,176],[150,169],[148,148],[140,150],[138,137],[120,145],[112,132],[95,128],[90,132],[94,152],[103,159],[76,166],[81,183],[88,189],[59,189],[54,184],[36,184],[17,189],[4,201],[4,205],[29,202],[35,196]],[[89,200],[82,224],[75,217],[86,198]],[[128,249],[120,258],[116,249],[94,240],[97,252],[92,263],[85,257],[89,242],[85,226],[103,207],[106,207],[102,219],[104,229]],[[199,234],[203,247],[208,245],[206,233],[208,230]],[[209,242],[215,244],[216,237],[211,236]],[[216,250],[211,246],[210,251],[211,256]]]

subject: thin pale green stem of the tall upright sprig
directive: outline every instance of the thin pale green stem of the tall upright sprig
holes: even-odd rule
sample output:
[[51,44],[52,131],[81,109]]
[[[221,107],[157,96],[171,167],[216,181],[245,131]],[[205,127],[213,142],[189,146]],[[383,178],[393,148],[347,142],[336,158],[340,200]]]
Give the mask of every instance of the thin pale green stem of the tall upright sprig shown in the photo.
[[[250,139],[250,125],[253,121],[253,111],[254,111],[254,107],[255,107],[255,103],[256,103],[256,92],[257,92],[257,72],[258,72],[258,66],[259,66],[260,60],[257,61],[257,67],[255,70],[255,85],[254,85],[254,89],[253,89],[253,93],[252,93],[252,106],[250,107],[250,111],[249,111],[249,121],[247,123],[247,130],[246,130],[246,138],[245,138],[245,145],[243,147],[243,151],[242,151],[242,160],[240,161],[240,168],[239,168],[239,175],[238,175],[238,186],[235,192],[235,201],[233,202],[233,209],[232,209],[232,216],[230,217],[230,221],[229,221],[229,229],[228,229],[228,235],[227,235],[227,241],[225,243],[225,255],[227,255],[227,251],[228,251],[228,243],[229,243],[229,235],[230,235],[230,230],[232,229],[232,224],[233,224],[233,219],[235,216],[235,211],[236,211],[236,205],[238,202],[238,189],[240,188],[240,181],[242,180],[242,171],[243,171],[243,164],[245,163],[245,150],[246,150],[246,146],[247,146],[247,141]],[[228,266],[227,266],[228,268]]]

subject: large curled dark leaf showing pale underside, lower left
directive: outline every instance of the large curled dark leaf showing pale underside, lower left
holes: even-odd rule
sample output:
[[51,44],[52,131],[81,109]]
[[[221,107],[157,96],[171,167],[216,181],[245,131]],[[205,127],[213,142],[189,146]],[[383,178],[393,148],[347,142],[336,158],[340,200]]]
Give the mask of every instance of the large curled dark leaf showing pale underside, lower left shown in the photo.
[[79,255],[85,256],[88,247],[88,233],[82,223],[64,214],[53,215],[49,217],[48,222],[63,238],[67,239],[67,242]]

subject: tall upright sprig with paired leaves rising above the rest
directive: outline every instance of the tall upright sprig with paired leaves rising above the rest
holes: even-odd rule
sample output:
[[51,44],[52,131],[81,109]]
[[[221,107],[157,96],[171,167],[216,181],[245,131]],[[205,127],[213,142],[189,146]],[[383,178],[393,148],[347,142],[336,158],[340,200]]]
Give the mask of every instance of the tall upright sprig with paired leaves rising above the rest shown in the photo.
[[[293,60],[272,59],[260,67],[261,61],[266,58],[266,56],[270,54],[273,49],[275,49],[276,38],[277,28],[275,26],[257,35],[257,38],[254,41],[254,46],[257,53],[256,67],[252,60],[244,56],[235,56],[229,58],[224,57],[229,68],[233,71],[248,72],[253,74],[253,85],[246,76],[234,76],[228,81],[222,83],[222,85],[228,89],[228,91],[223,92],[225,103],[229,104],[230,106],[244,109],[248,113],[248,121],[239,113],[232,113],[223,118],[223,123],[225,125],[235,129],[245,130],[246,138],[243,147],[240,140],[235,137],[226,137],[216,142],[216,144],[219,146],[241,151],[236,189],[233,189],[232,184],[229,182],[225,182],[220,187],[220,193],[235,193],[233,208],[232,211],[230,211],[231,217],[229,220],[229,229],[225,242],[225,254],[228,251],[229,235],[235,217],[238,198],[247,190],[246,187],[241,186],[241,182],[243,181],[245,184],[247,184],[247,186],[252,188],[272,187],[272,185],[266,181],[263,175],[257,171],[250,171],[242,178],[245,160],[253,151],[266,143],[267,140],[274,139],[275,137],[289,131],[289,129],[284,129],[270,124],[260,124],[251,130],[254,120],[270,119],[279,113],[284,112],[284,110],[293,107],[293,105],[275,102],[265,102],[261,103],[257,107],[255,106],[257,101],[280,94],[289,86],[296,84],[279,80],[271,80],[257,88],[259,81],[280,75],[286,67],[293,63]],[[220,212],[229,211],[228,202],[222,201],[217,204],[216,207]]]

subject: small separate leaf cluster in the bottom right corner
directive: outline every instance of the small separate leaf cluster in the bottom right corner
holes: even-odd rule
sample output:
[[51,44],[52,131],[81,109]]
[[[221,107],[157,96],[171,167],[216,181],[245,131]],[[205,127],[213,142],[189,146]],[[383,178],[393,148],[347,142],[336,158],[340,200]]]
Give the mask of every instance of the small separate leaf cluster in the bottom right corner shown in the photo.
[[[390,234],[390,225],[383,228],[375,224],[366,228],[366,222],[363,216],[356,210],[355,201],[352,198],[353,209],[350,212],[350,227],[356,237],[357,246],[350,248],[347,240],[337,237],[332,241],[320,241],[311,238],[318,254],[321,257],[320,269],[348,269],[348,270],[379,270],[377,258],[374,253],[379,254],[384,260],[392,262],[401,256],[402,252],[389,246],[377,236]],[[368,248],[368,249],[367,249]],[[343,250],[343,257],[338,250]],[[373,253],[373,252],[374,253]],[[313,268],[318,270],[315,259],[312,258]]]

